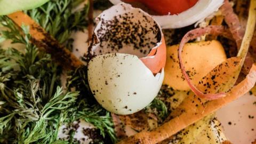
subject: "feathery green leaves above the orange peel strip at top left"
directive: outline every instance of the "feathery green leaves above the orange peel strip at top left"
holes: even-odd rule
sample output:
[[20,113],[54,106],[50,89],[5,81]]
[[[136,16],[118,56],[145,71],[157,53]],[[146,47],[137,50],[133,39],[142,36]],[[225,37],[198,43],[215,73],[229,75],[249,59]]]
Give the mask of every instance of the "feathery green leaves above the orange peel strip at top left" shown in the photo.
[[65,44],[69,50],[72,50],[71,43],[73,39],[70,34],[74,30],[83,30],[87,26],[87,13],[89,3],[82,9],[74,11],[77,5],[84,1],[81,0],[58,0],[50,1],[37,9],[27,11],[37,23],[61,44]]

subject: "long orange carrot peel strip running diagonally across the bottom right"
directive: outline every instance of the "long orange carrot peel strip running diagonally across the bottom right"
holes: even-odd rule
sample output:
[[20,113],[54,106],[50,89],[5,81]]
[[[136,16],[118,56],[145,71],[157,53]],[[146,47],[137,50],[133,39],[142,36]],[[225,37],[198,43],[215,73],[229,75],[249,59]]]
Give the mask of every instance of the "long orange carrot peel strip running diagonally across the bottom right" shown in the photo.
[[[251,1],[250,10],[254,10],[256,6],[256,1]],[[255,13],[254,11],[251,11]],[[251,13],[250,13],[251,15]],[[255,23],[253,27],[255,26]],[[248,30],[247,30],[248,31]],[[253,31],[251,31],[253,33]],[[248,34],[247,34],[248,35]],[[246,35],[245,35],[246,36]],[[249,42],[250,43],[250,42]],[[246,49],[243,47],[243,49]],[[246,54],[245,54],[246,55]],[[242,66],[241,66],[242,67]],[[239,74],[239,73],[238,73]],[[159,126],[154,131],[143,131],[138,134],[133,135],[133,137],[127,138],[119,143],[157,143],[166,138],[171,137],[171,135],[177,133],[178,131],[184,129],[190,124],[197,122],[199,119],[207,116],[214,111],[218,110],[222,106],[227,105],[229,102],[236,100],[239,97],[242,97],[245,93],[249,92],[256,82],[256,66],[253,64],[250,73],[246,78],[234,86],[226,95],[226,97],[212,100],[206,103],[203,103],[198,106],[191,105],[192,102],[187,103],[190,109],[183,111],[183,113],[169,122],[164,123],[162,126]]]

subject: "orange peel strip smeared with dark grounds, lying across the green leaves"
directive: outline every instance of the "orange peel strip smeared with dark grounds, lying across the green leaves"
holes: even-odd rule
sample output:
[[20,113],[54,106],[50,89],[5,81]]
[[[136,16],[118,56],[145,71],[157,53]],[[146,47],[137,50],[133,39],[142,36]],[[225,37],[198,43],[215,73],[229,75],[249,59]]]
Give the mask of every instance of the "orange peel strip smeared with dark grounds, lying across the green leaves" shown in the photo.
[[[19,27],[22,25],[29,26],[29,34],[31,35],[31,42],[39,48],[43,48],[47,53],[52,55],[52,58],[59,62],[63,68],[75,69],[83,66],[81,60],[75,57],[73,53],[66,49],[66,47],[59,44],[59,42],[46,33],[46,31],[38,25],[27,14],[19,11],[7,15]],[[58,55],[58,52],[62,53]]]

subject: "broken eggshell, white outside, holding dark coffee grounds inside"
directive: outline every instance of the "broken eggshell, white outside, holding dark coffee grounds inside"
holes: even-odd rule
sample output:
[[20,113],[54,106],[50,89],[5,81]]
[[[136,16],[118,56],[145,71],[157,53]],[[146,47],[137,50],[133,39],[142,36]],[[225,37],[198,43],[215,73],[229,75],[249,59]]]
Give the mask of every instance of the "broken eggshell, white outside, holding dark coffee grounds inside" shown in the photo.
[[97,20],[88,63],[94,97],[115,114],[133,114],[154,100],[164,78],[166,46],[151,16],[121,3]]

